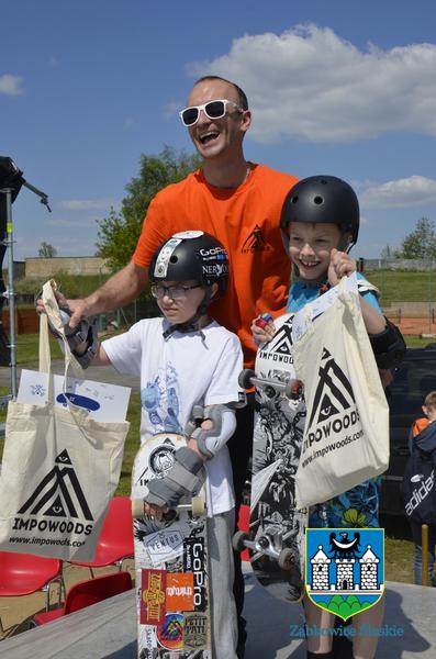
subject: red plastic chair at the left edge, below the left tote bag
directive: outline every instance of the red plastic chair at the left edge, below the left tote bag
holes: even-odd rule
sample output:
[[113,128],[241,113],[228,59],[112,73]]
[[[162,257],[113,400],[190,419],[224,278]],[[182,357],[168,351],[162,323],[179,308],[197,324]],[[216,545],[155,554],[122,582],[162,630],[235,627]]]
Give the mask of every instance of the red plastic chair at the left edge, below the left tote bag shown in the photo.
[[[45,592],[45,610],[49,608],[52,583],[59,583],[59,605],[62,597],[63,561],[57,558],[43,558],[32,554],[0,551],[0,597],[30,595]],[[0,632],[3,626],[0,619]]]

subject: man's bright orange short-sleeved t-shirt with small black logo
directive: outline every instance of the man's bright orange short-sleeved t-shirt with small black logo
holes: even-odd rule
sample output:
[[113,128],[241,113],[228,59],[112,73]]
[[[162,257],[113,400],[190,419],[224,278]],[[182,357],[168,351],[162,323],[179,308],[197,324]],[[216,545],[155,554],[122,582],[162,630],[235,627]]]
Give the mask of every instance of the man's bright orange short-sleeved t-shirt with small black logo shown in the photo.
[[201,230],[214,235],[230,255],[226,294],[210,313],[239,336],[246,368],[253,368],[256,345],[250,324],[264,311],[284,313],[290,266],[278,217],[295,179],[247,163],[247,178],[236,189],[208,183],[200,169],[156,194],[148,206],[133,263],[147,268],[150,256],[168,236]]

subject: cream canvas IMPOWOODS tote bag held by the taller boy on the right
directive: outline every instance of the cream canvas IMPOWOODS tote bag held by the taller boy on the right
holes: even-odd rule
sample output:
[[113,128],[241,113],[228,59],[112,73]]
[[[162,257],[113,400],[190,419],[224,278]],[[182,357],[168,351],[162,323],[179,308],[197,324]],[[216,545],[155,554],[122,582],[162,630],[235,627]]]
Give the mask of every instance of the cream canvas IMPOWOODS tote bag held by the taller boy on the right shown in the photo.
[[[297,506],[322,503],[385,471],[389,407],[358,294],[339,283],[333,304],[293,345],[308,416],[295,476]],[[305,310],[303,310],[304,313]]]

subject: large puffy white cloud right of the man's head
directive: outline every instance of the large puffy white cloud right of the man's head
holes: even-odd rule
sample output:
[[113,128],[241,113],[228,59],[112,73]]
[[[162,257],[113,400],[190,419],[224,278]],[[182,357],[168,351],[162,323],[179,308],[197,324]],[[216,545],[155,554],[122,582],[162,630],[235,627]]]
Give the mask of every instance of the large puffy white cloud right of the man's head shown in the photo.
[[241,83],[254,111],[250,135],[348,142],[387,132],[436,135],[436,44],[366,52],[328,27],[298,25],[247,35],[228,54],[193,63],[194,77]]

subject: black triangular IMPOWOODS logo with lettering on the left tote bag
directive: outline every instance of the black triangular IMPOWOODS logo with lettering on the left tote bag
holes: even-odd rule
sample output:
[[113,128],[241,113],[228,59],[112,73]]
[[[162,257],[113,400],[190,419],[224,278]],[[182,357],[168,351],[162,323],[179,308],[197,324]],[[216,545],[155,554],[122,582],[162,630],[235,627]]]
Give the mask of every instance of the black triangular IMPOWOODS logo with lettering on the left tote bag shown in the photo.
[[89,535],[93,525],[85,522],[93,522],[92,513],[68,451],[63,450],[54,468],[18,511],[12,528]]

